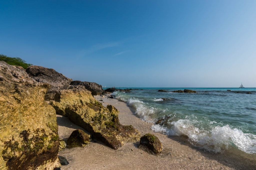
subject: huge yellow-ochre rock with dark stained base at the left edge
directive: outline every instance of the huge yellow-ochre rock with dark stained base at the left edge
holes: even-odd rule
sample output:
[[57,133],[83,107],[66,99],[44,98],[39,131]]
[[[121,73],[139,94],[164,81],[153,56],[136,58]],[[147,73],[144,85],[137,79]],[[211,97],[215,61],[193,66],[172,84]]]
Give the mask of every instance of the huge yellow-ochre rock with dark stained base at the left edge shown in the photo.
[[44,101],[49,88],[0,61],[0,169],[60,166],[56,113]]

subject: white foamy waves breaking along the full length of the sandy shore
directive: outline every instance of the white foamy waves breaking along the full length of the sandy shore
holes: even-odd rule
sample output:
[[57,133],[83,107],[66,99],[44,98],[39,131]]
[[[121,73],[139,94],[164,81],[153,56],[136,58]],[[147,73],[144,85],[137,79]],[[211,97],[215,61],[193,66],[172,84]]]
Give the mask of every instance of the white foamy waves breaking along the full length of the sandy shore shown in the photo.
[[[168,108],[156,107],[149,100],[132,97],[129,93],[114,92],[112,95],[133,107],[135,114],[147,122],[154,122],[158,115],[167,115],[170,112]],[[161,100],[156,97],[151,98],[151,101]],[[236,147],[247,153],[256,153],[256,135],[243,133],[232,125],[216,122],[198,114],[178,113],[175,118],[165,122],[164,126],[152,125],[152,130],[169,136],[185,135],[192,145],[211,152]]]

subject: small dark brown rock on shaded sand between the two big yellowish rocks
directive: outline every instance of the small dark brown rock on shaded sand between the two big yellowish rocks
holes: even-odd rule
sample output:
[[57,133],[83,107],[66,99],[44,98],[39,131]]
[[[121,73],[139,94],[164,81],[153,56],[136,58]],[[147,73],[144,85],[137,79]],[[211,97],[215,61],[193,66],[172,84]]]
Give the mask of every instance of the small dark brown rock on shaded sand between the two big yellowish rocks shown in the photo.
[[69,148],[73,147],[85,147],[90,143],[90,135],[85,133],[84,131],[77,129],[74,130],[67,140],[67,144]]

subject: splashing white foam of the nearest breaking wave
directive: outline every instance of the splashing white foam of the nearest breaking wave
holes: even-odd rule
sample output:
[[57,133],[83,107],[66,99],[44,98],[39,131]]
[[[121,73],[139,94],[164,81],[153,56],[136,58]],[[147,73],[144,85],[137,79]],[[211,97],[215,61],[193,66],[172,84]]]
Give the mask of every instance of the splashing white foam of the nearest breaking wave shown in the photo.
[[221,152],[235,145],[247,153],[256,153],[256,135],[245,134],[237,128],[215,126],[206,131],[194,126],[197,121],[183,120],[171,122],[171,128],[161,125],[152,125],[152,130],[169,136],[188,136],[188,140],[194,146],[211,151]]

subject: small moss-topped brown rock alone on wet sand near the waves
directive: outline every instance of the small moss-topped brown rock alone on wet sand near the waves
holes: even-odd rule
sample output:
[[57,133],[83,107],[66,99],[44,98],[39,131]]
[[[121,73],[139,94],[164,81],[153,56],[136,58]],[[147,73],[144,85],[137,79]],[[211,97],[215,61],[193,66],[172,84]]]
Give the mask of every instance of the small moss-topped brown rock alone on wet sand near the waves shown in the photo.
[[155,154],[159,154],[163,150],[163,145],[158,137],[149,133],[141,137],[139,148],[143,146],[146,146]]

